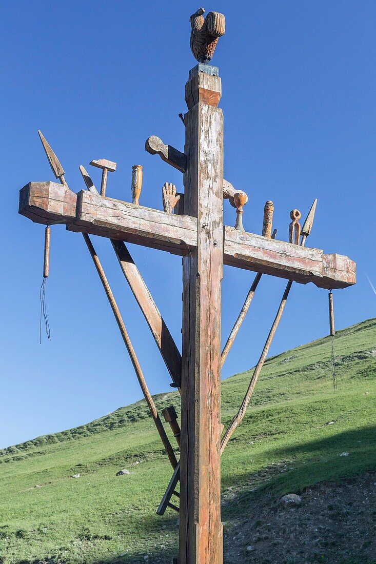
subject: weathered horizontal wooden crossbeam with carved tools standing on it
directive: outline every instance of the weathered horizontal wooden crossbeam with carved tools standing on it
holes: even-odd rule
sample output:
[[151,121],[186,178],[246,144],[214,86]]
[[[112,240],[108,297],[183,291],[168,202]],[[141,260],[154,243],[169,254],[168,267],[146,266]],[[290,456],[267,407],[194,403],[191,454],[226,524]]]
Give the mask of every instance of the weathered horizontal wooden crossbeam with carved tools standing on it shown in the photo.
[[[128,241],[185,255],[197,245],[197,219],[129,204],[55,182],[30,182],[20,191],[19,213],[36,223],[65,223],[70,231]],[[203,226],[201,228],[204,228]],[[224,263],[319,288],[355,284],[355,263],[338,254],[224,228]]]

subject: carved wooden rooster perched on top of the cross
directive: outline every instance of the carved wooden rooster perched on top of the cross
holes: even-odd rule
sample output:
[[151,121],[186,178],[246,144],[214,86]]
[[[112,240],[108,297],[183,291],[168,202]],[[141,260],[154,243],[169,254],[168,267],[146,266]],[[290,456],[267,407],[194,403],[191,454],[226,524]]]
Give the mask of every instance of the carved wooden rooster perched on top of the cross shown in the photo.
[[211,60],[218,38],[225,33],[225,16],[218,12],[209,12],[204,19],[204,11],[204,8],[199,8],[189,19],[191,51],[199,63],[208,63]]

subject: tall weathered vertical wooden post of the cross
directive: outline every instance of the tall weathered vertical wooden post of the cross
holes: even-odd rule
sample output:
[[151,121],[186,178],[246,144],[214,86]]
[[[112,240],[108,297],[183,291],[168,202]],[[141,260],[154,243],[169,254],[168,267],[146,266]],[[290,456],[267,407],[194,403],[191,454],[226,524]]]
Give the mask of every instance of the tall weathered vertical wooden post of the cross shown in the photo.
[[184,212],[198,247],[183,258],[180,564],[222,564],[220,473],[223,116],[221,80],[198,65],[186,84]]

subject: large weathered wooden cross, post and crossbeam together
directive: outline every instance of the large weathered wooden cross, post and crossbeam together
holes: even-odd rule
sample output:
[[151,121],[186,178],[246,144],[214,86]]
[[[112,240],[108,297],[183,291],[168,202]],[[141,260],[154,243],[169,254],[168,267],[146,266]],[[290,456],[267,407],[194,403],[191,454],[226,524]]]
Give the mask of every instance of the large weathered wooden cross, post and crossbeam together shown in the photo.
[[[183,173],[178,214],[100,196],[85,169],[82,174],[85,178],[86,173],[89,190],[77,195],[65,180],[59,184],[30,182],[20,191],[19,212],[32,221],[65,223],[70,231],[111,239],[174,385],[181,389],[180,564],[223,562],[220,369],[224,263],[302,284],[312,281],[319,288],[345,288],[356,281],[355,263],[347,257],[224,226],[223,197],[231,200],[235,191],[223,177],[220,98],[218,69],[198,64],[185,87],[184,152],[155,137],[146,142],[148,152],[158,153]],[[181,355],[126,249],[127,241],[182,256]],[[173,457],[172,465],[175,488],[178,467]]]

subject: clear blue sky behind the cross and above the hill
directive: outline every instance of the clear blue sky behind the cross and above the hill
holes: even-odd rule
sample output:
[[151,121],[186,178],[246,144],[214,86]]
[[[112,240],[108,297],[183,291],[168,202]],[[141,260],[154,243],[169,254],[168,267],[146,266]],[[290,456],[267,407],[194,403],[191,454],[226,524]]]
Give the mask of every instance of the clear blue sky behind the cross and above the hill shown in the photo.
[[[143,165],[141,203],[161,209],[161,186],[182,175],[145,152],[149,135],[178,149],[192,2],[33,2],[14,0],[3,15],[2,276],[0,447],[71,428],[141,398],[132,364],[82,237],[51,231],[47,307],[51,342],[39,343],[43,226],[18,215],[18,191],[53,180],[37,129],[84,187],[78,165],[117,162],[107,195],[130,201],[132,165]],[[225,178],[245,190],[243,222],[260,233],[273,200],[278,238],[289,212],[303,217],[315,197],[308,244],[357,262],[356,287],[334,293],[338,329],[376,315],[374,251],[376,3],[286,0],[204,5],[226,16],[213,64],[222,78]],[[225,202],[225,222],[235,213]],[[169,377],[110,243],[93,237],[152,393]],[[129,246],[176,342],[181,343],[181,261]],[[225,341],[253,274],[225,267]],[[263,277],[222,371],[257,361],[285,281]],[[271,354],[328,332],[327,292],[295,284]],[[329,344],[328,344],[329,346]],[[340,387],[340,382],[338,383]],[[328,374],[328,390],[331,388]]]

